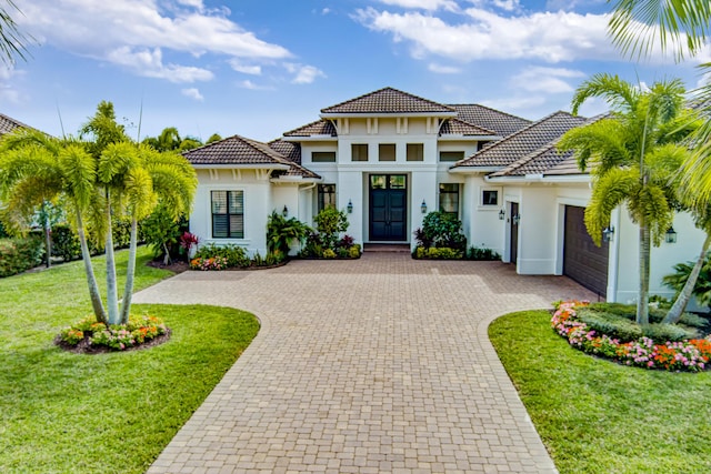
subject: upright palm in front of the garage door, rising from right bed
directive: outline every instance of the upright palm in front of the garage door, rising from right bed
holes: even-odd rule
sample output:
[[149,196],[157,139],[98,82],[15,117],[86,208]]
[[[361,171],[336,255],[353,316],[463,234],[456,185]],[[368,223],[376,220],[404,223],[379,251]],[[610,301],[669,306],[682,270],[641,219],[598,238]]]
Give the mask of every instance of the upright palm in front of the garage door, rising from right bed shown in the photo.
[[612,113],[567,132],[561,150],[573,150],[579,167],[591,165],[593,189],[585,209],[585,226],[599,245],[613,209],[627,204],[639,225],[640,286],[637,322],[649,323],[651,244],[661,243],[677,206],[671,177],[688,151],[675,142],[689,130],[682,112],[684,88],[678,80],[641,91],[617,75],[595,74],[575,91],[573,113],[590,98],[602,98]]

